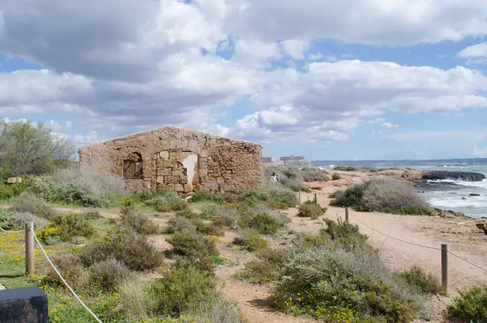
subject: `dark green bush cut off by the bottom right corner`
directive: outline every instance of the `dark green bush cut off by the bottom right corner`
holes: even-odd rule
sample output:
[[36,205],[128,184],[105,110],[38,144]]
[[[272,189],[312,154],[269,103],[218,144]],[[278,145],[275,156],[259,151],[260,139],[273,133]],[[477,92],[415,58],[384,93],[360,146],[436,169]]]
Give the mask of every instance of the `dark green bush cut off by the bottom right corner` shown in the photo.
[[447,313],[462,322],[487,322],[487,285],[473,286],[459,292]]

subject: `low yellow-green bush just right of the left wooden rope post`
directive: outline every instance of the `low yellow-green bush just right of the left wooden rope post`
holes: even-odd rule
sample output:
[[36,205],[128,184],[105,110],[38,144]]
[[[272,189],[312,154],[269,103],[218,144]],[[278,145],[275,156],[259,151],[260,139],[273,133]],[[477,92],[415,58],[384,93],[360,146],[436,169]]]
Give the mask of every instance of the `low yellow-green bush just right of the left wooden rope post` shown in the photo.
[[40,228],[38,238],[49,244],[56,241],[72,241],[75,237],[92,237],[95,228],[79,214],[56,216],[49,225]]

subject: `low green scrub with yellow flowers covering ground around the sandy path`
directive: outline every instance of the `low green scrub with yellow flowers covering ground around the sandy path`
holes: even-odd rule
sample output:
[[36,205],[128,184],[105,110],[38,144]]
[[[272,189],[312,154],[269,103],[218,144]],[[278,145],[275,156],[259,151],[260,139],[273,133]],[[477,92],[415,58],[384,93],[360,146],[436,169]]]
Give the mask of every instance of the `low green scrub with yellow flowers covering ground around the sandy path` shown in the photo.
[[[197,191],[183,200],[171,191],[127,194],[123,183],[110,174],[54,171],[62,163],[53,160],[52,167],[25,168],[45,174],[41,181],[0,182],[0,200],[10,203],[9,210],[0,210],[0,226],[20,230],[25,221],[33,221],[56,267],[103,322],[246,322],[238,306],[225,298],[216,277],[216,266],[227,263],[222,248],[257,256],[235,279],[269,284],[271,303],[278,310],[319,322],[427,319],[424,301],[445,294],[438,278],[420,267],[390,269],[351,223],[324,219],[315,235],[287,230],[289,218],[280,210],[296,207],[295,191],[307,189],[303,182],[328,180],[324,171],[272,166],[264,168],[262,190],[227,196]],[[2,171],[29,173],[18,169]],[[269,180],[273,172],[280,175],[280,183]],[[431,214],[413,188],[395,180],[370,180],[338,191],[333,198],[333,205],[358,211]],[[58,212],[53,205],[78,210],[109,207],[118,217]],[[326,211],[305,202],[296,216],[316,221]],[[155,221],[165,218],[162,224]],[[220,237],[229,230],[238,237],[222,245]],[[272,243],[282,236],[289,243]],[[170,247],[157,248],[154,238]],[[94,322],[37,250],[37,274],[23,275],[23,233],[0,235],[0,248],[2,282],[7,287],[42,287],[49,295],[49,322]],[[449,315],[484,322],[486,295],[485,286],[465,290],[449,306]]]

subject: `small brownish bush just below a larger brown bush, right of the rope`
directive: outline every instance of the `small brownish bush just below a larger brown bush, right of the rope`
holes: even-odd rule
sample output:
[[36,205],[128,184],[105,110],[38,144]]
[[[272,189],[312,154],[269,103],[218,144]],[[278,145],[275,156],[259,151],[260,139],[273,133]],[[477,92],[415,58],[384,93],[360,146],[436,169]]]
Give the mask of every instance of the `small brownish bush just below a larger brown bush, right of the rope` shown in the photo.
[[90,282],[105,292],[116,292],[120,283],[135,279],[130,269],[115,259],[95,262],[90,270]]

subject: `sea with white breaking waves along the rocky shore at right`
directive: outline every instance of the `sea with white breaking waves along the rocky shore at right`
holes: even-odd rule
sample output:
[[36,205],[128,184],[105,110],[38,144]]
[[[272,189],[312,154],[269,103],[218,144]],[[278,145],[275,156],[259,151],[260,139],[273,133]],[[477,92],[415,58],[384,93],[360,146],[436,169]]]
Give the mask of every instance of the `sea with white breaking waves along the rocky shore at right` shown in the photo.
[[[315,163],[313,163],[315,164]],[[325,166],[353,165],[376,168],[414,168],[423,171],[465,171],[483,173],[487,176],[486,159],[458,159],[434,161],[319,161]],[[417,187],[418,193],[433,207],[442,210],[463,212],[472,218],[487,217],[487,180],[464,182],[461,180],[436,180]],[[471,194],[475,194],[472,196]]]

